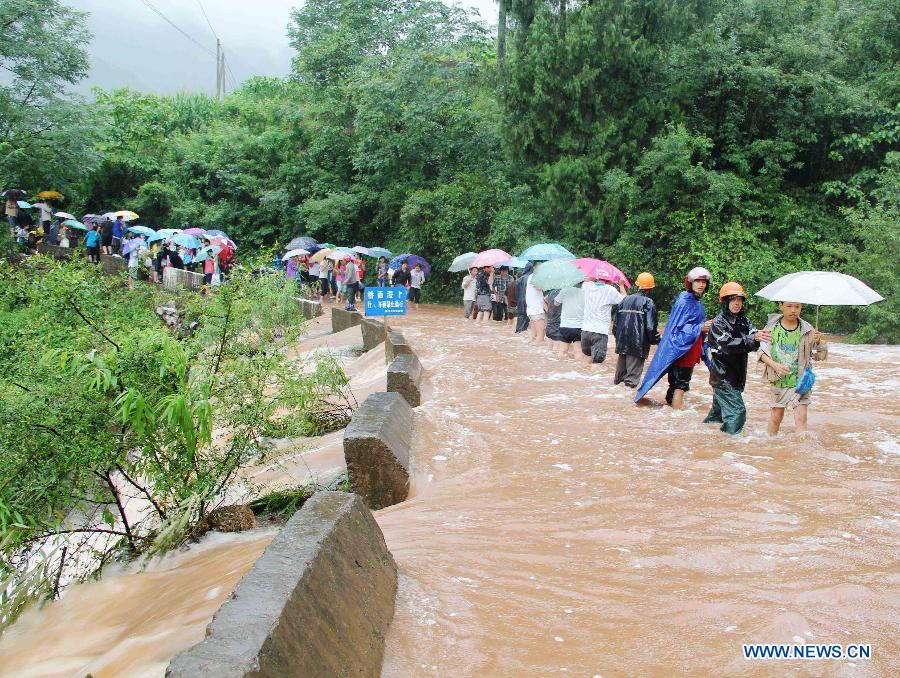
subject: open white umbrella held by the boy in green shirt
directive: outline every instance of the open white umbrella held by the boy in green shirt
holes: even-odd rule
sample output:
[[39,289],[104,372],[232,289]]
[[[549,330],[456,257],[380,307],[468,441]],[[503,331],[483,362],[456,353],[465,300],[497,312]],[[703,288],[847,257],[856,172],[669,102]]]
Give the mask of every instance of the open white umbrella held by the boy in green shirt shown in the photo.
[[781,276],[754,296],[770,301],[795,301],[816,305],[816,327],[819,306],[868,306],[884,301],[878,292],[852,275],[835,271],[800,271]]

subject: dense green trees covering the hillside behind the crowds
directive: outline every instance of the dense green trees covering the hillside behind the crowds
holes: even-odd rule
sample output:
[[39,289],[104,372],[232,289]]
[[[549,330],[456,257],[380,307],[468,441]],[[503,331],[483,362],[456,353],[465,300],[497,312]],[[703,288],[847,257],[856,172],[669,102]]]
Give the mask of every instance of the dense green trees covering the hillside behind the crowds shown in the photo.
[[73,118],[90,121],[77,185],[10,156],[0,174],[70,182],[70,211],[129,207],[249,248],[310,234],[413,251],[434,264],[432,300],[457,298],[456,254],[544,239],[654,272],[664,306],[697,264],[750,289],[832,268],[887,301],[824,326],[900,340],[896,2],[502,9],[498,60],[494,36],[437,0],[309,0],[290,79],[221,103],[100,92]]

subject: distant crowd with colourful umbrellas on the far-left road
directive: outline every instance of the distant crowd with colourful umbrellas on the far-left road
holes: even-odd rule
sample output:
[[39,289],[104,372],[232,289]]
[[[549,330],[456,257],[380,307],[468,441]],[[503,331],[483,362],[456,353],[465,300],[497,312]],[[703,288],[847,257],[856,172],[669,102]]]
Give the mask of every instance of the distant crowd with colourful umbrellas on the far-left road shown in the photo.
[[[167,268],[203,274],[204,283],[218,285],[234,262],[237,245],[221,230],[186,228],[152,229],[137,224],[139,215],[130,210],[105,214],[75,215],[57,210],[53,201],[62,200],[56,191],[36,195],[41,202],[30,203],[21,189],[7,189],[6,219],[10,233],[25,253],[39,245],[84,247],[92,263],[100,255],[123,257],[127,261],[129,284],[134,285],[140,268],[153,282],[161,283]],[[37,220],[32,216],[37,212]]]

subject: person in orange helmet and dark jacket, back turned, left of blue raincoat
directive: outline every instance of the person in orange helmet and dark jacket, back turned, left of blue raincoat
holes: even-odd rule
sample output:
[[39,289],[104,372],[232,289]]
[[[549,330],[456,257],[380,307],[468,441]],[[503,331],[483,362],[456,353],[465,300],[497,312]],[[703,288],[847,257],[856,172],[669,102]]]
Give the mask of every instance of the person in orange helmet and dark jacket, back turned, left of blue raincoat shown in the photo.
[[650,273],[641,273],[635,281],[638,291],[619,304],[616,313],[616,363],[614,384],[637,388],[644,372],[650,345],[659,343],[659,320],[650,290],[656,285]]

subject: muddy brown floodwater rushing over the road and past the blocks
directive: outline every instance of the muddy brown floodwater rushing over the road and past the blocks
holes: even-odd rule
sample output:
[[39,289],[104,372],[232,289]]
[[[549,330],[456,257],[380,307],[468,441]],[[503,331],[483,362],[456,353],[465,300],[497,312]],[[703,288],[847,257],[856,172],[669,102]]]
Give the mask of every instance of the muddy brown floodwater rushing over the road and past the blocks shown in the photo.
[[[394,324],[426,383],[412,497],[377,514],[400,569],[385,676],[900,675],[900,347],[831,343],[805,440],[790,413],[766,435],[751,368],[747,427],[727,437],[701,423],[703,366],[685,410],[637,408],[614,355],[561,360],[457,309]],[[380,368],[357,360],[373,387]],[[7,632],[0,673],[161,676],[154,634],[199,640],[269,538],[201,545],[233,551],[229,576],[146,583],[185,559],[73,587]],[[871,658],[752,661],[744,643],[863,643]]]

